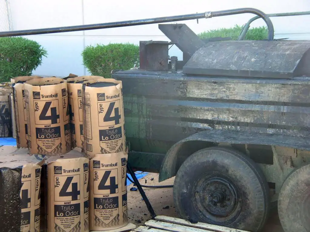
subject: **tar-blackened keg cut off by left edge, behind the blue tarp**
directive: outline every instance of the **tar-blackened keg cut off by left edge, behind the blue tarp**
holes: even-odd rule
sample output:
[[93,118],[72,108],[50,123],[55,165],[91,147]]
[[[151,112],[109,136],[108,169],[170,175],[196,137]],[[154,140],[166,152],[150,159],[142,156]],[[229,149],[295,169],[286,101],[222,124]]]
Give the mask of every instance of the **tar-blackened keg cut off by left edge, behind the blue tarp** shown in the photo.
[[0,87],[0,138],[12,137],[11,86]]

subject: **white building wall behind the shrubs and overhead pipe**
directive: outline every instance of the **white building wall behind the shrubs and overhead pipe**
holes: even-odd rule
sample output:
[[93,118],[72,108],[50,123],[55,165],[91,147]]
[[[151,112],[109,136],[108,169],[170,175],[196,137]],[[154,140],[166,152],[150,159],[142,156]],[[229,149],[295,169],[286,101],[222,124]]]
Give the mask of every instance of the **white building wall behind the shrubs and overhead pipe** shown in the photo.
[[[3,1],[3,0],[0,0]],[[95,24],[122,20],[134,20],[162,16],[192,14],[196,12],[218,11],[240,7],[253,7],[265,13],[310,11],[309,0],[7,0],[11,5],[14,30],[61,27],[70,25]],[[215,17],[183,21],[195,33],[221,27],[245,24],[254,15]],[[310,16],[271,18],[275,28],[275,38],[310,39]],[[252,26],[265,25],[262,19]],[[132,42],[140,40],[166,40],[158,25],[141,25],[115,29],[100,29],[70,33],[33,35],[28,38],[38,41],[47,49],[48,56],[33,74],[67,76],[87,74],[82,65],[81,52],[87,45]],[[174,46],[175,47],[175,46]],[[176,47],[170,49],[170,56],[182,53]]]

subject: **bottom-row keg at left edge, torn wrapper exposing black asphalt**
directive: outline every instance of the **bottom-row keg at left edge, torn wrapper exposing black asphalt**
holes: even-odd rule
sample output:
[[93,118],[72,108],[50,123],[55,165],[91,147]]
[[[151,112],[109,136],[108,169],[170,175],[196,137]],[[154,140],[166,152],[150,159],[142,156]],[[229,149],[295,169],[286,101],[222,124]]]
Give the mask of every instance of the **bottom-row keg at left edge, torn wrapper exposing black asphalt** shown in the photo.
[[40,231],[42,162],[26,153],[0,157],[1,231]]

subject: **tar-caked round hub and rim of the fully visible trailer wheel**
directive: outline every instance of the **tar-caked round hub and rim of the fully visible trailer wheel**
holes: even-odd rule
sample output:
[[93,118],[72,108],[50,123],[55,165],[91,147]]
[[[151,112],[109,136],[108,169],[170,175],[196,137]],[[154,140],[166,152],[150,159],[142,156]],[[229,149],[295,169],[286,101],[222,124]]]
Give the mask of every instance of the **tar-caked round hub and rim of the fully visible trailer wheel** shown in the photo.
[[229,224],[239,215],[242,201],[237,185],[223,175],[204,176],[196,181],[195,207],[209,220]]

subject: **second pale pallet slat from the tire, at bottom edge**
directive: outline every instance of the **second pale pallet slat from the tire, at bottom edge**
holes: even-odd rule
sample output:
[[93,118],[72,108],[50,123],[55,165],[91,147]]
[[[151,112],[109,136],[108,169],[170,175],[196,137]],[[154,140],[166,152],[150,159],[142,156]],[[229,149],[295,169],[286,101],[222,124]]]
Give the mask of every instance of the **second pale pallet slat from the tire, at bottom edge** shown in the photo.
[[173,224],[169,222],[155,221],[155,220],[149,220],[145,222],[144,225],[157,228],[157,229],[175,231],[175,232],[213,232],[212,230],[199,229],[199,228],[188,227],[184,225],[177,225],[177,224]]

